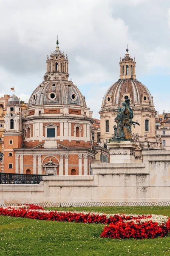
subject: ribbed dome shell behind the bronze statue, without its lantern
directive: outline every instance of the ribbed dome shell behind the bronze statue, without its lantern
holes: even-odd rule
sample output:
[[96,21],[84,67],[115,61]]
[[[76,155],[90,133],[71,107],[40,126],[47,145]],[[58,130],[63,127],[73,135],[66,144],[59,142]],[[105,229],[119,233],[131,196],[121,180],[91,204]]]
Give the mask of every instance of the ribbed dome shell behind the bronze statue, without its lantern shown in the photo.
[[136,79],[120,79],[111,85],[105,93],[102,101],[102,108],[105,107],[107,103],[112,106],[122,105],[122,101],[127,98],[126,93],[131,99],[131,104],[141,105],[144,103],[144,105],[153,107],[152,96],[144,84]]

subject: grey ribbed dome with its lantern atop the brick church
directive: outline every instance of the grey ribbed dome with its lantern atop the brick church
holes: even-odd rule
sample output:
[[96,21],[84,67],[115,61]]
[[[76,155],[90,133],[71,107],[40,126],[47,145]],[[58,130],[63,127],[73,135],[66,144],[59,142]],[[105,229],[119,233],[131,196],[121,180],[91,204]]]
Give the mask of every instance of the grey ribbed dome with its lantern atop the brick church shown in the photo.
[[59,50],[59,41],[50,58],[47,56],[47,70],[44,80],[31,94],[28,107],[36,105],[74,105],[86,107],[85,97],[76,85],[68,79],[68,56]]

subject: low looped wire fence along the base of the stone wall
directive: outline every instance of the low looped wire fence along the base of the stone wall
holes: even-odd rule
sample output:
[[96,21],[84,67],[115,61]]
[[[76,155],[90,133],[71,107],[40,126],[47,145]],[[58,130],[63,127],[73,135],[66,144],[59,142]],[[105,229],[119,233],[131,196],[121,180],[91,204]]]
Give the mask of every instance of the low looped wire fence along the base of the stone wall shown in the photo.
[[[0,207],[8,207],[8,206],[17,206],[23,205],[26,203],[10,203],[10,204],[0,204]],[[28,204],[28,203],[27,203]],[[69,202],[56,202],[56,203],[31,203],[43,208],[58,208],[58,207],[138,207],[138,206],[170,206],[170,202],[77,202],[77,203],[69,203]]]

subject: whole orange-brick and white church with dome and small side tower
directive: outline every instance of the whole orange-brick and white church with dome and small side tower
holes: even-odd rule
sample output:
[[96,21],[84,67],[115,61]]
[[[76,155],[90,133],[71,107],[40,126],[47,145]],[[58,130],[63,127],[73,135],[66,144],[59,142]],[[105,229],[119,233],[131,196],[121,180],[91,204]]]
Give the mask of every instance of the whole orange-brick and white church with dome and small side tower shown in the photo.
[[90,175],[96,150],[90,109],[69,79],[68,57],[57,47],[47,57],[44,81],[26,110],[8,99],[4,116],[2,172],[45,175]]

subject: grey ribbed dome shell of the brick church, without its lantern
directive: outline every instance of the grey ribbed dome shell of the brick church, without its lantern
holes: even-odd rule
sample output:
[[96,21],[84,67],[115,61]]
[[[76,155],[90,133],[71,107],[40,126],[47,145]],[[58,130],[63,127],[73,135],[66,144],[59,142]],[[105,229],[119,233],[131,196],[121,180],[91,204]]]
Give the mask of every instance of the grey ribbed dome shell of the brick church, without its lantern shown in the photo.
[[35,105],[74,105],[86,108],[85,97],[71,81],[42,82],[31,94],[28,107]]

